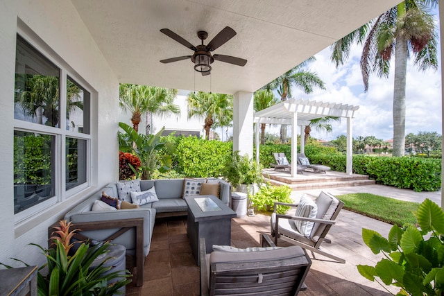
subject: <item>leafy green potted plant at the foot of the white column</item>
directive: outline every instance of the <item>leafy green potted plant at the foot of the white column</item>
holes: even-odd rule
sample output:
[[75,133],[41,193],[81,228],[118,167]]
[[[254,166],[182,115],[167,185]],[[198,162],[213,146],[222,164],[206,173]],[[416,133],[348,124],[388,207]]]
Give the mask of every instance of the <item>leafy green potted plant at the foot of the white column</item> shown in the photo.
[[248,216],[254,216],[251,209],[250,196],[257,192],[262,185],[264,177],[262,176],[262,166],[257,164],[253,158],[248,155],[241,156],[239,151],[234,151],[232,157],[229,157],[222,171],[225,181],[229,182],[235,191],[243,192],[248,195]]

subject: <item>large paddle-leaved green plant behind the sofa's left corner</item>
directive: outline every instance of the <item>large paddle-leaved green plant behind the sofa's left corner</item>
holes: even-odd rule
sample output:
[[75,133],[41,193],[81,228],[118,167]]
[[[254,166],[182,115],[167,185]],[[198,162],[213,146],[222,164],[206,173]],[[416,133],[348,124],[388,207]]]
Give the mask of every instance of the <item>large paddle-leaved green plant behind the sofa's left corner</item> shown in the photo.
[[119,148],[123,151],[132,151],[140,160],[141,165],[137,173],[142,180],[151,180],[155,170],[166,173],[171,169],[171,156],[161,155],[162,148],[166,147],[173,153],[173,146],[161,141],[162,128],[157,134],[138,134],[130,125],[120,122],[119,127],[126,132],[119,137]]

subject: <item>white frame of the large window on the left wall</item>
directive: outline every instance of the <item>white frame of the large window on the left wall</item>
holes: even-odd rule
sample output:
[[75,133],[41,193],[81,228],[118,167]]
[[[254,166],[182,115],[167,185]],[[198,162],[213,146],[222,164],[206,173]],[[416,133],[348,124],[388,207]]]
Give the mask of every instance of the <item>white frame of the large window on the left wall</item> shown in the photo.
[[[26,222],[29,218],[33,216],[37,216],[42,214],[46,209],[51,207],[56,207],[56,205],[61,202],[65,202],[69,200],[73,195],[88,189],[92,186],[92,105],[93,105],[93,94],[94,89],[90,87],[89,83],[87,83],[82,77],[80,77],[74,70],[69,67],[65,61],[63,61],[56,53],[53,53],[51,50],[47,50],[48,46],[44,44],[44,42],[38,40],[36,37],[32,37],[28,33],[26,33],[21,28],[17,28],[17,35],[22,37],[22,39],[30,44],[35,51],[44,55],[44,57],[52,62],[56,67],[60,69],[60,103],[59,103],[59,126],[51,127],[47,125],[41,125],[38,123],[32,123],[28,121],[22,121],[20,119],[13,119],[13,130],[19,130],[24,132],[36,132],[40,134],[50,134],[55,136],[55,151],[54,153],[54,164],[53,166],[53,174],[54,174],[54,195],[47,200],[39,202],[35,204],[33,207],[28,209],[24,209],[23,211],[19,211],[14,215],[15,225],[19,223]],[[16,36],[17,36],[16,35]],[[17,39],[16,39],[17,44]],[[16,45],[17,46],[17,45]],[[71,130],[66,130],[66,118],[67,118],[67,79],[71,78],[71,80],[76,81],[78,85],[83,87],[85,91],[89,92],[89,118],[87,119],[89,124],[89,134],[84,134],[80,132],[74,132]],[[13,94],[11,94],[12,100]],[[74,186],[71,189],[66,189],[66,139],[67,137],[76,138],[76,139],[84,139],[86,141],[86,182],[79,184],[78,186]],[[14,154],[14,153],[13,153]],[[13,175],[13,172],[11,172]]]

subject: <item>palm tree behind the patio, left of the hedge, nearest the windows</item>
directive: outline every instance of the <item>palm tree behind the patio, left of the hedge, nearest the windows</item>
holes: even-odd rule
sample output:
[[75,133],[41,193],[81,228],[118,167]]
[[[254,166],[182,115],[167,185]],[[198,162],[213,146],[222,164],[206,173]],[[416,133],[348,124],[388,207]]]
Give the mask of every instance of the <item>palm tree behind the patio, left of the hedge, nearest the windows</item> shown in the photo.
[[176,94],[177,89],[123,83],[120,85],[119,106],[131,112],[131,122],[136,131],[139,130],[142,114],[146,112],[146,134],[151,134],[152,114],[180,114],[180,107],[174,104]]

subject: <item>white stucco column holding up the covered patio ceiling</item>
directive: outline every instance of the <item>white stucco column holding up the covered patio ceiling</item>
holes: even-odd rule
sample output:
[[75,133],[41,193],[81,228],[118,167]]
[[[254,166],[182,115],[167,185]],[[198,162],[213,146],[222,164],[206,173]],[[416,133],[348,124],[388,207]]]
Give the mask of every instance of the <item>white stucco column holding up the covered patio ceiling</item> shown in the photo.
[[253,92],[233,96],[233,151],[253,157]]

